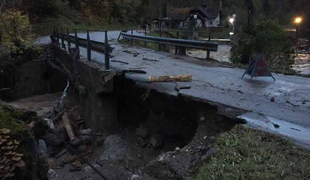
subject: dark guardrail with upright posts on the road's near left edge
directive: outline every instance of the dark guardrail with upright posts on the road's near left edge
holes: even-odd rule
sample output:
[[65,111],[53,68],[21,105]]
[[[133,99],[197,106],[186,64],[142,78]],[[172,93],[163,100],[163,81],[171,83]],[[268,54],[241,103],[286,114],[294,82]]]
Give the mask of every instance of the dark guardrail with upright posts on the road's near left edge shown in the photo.
[[[91,51],[96,51],[99,53],[105,54],[105,69],[110,69],[110,53],[112,52],[113,48],[110,47],[108,42],[108,31],[105,31],[105,42],[98,42],[94,40],[90,40],[89,30],[87,30],[87,39],[83,39],[78,37],[77,30],[75,29],[75,35],[72,36],[69,34],[69,29],[67,29],[67,33],[60,33],[55,32],[51,36],[59,46],[59,40],[61,40],[61,47],[66,50],[65,41],[67,41],[68,51],[70,52],[71,43],[75,44],[75,50],[79,52],[79,47],[84,47],[87,49],[87,60],[91,61]],[[60,46],[59,46],[60,47]]]

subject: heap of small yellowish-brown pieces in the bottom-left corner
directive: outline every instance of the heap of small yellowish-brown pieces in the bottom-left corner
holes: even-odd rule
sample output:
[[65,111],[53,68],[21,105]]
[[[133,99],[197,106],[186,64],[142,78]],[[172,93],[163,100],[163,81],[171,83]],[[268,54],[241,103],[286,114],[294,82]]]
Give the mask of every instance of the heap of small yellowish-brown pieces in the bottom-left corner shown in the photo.
[[0,179],[12,179],[16,167],[25,167],[23,154],[17,152],[19,144],[11,137],[9,129],[0,129]]

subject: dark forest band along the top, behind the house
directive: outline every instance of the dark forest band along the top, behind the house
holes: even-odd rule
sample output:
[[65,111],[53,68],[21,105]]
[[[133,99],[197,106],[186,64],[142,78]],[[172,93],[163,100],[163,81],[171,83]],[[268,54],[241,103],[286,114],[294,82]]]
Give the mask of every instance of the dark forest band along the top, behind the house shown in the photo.
[[[137,25],[154,18],[164,17],[176,7],[193,7],[207,3],[221,8],[223,17],[237,14],[247,18],[248,0],[0,0],[0,18],[8,9],[27,14],[31,24],[50,26],[85,25],[108,26],[110,24]],[[283,26],[293,25],[293,17],[310,17],[308,0],[253,0],[256,16],[264,15]],[[2,19],[2,18],[1,18]],[[1,22],[0,19],[0,22]],[[223,18],[222,21],[227,21]],[[303,29],[310,29],[305,19]],[[36,27],[36,26],[34,26]]]

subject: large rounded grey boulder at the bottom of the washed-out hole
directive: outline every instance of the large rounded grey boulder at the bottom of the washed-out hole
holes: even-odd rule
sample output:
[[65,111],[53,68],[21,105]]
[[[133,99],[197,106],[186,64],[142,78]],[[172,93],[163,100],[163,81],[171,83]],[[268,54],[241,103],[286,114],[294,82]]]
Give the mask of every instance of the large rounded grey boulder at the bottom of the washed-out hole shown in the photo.
[[104,141],[104,151],[100,156],[100,161],[123,160],[128,151],[127,143],[120,135],[108,136]]

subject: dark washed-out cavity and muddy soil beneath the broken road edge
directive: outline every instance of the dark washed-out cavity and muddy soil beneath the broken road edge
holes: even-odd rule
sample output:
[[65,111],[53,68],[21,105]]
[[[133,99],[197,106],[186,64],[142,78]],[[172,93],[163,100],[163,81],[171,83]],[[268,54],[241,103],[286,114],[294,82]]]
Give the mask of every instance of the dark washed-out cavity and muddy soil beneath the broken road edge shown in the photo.
[[[218,116],[212,106],[153,91],[143,99],[147,90],[122,78],[116,82],[115,92],[109,96],[118,100],[119,128],[102,132],[89,143],[73,145],[81,154],[93,152],[89,163],[109,180],[184,179],[197,173],[213,154],[216,137],[236,124]],[[74,107],[72,96],[69,99],[66,107]],[[78,117],[80,112],[77,108],[71,113]],[[63,148],[50,146],[48,151],[56,179],[102,179],[86,163],[78,169],[74,163],[62,166],[72,158],[69,152],[55,157]]]

